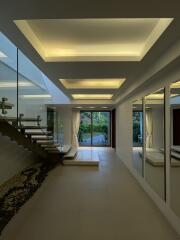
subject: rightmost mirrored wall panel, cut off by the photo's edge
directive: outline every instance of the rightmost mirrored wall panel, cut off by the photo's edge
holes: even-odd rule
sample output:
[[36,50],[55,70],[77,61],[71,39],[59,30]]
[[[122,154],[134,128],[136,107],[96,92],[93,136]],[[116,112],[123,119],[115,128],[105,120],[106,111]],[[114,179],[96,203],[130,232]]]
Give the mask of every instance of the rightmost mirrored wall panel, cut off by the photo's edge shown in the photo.
[[170,85],[171,208],[180,217],[180,81]]

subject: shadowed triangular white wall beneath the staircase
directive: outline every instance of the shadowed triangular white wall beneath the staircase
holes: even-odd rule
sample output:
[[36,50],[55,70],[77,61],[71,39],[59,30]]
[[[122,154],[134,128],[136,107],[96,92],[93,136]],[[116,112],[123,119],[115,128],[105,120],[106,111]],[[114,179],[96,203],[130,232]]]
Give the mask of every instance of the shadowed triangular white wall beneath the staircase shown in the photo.
[[0,134],[0,185],[37,160],[10,138]]

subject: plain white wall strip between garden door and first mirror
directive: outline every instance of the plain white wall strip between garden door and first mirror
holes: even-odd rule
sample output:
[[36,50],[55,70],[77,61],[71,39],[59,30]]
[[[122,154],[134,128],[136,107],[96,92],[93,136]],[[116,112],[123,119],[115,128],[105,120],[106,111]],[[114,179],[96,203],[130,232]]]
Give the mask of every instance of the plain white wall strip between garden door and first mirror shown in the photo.
[[120,159],[132,166],[132,103],[116,108],[116,151]]

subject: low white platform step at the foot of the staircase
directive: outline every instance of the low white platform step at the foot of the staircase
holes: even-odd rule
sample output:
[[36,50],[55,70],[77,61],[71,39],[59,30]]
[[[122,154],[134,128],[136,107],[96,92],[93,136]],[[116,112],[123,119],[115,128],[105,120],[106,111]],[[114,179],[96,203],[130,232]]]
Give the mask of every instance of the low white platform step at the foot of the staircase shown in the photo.
[[79,147],[75,158],[64,160],[64,165],[98,166],[99,151],[101,150],[103,150],[101,147]]

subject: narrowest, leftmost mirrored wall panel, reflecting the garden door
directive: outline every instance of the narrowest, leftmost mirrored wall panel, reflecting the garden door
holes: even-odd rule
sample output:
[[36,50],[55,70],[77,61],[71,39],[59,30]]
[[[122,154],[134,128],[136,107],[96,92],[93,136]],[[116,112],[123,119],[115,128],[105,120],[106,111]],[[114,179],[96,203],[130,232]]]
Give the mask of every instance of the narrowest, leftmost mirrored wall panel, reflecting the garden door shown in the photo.
[[133,167],[143,175],[143,103],[142,99],[132,104],[133,117]]

